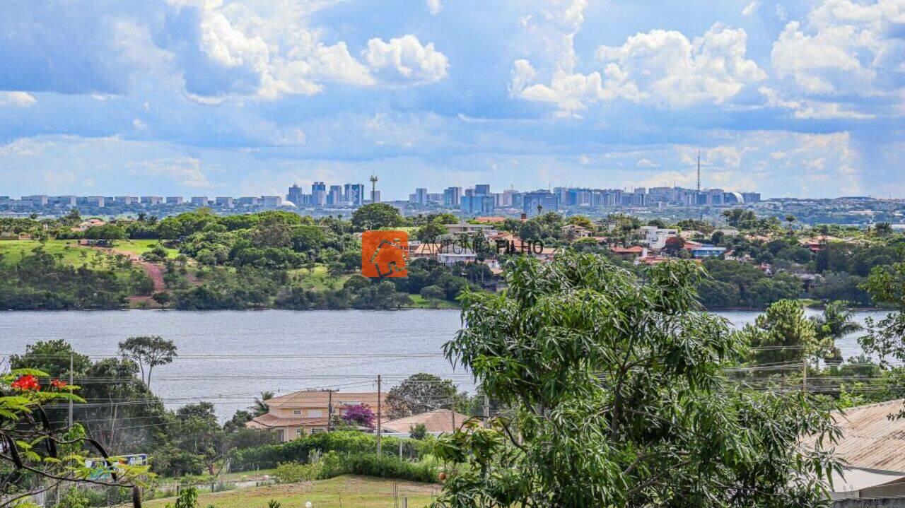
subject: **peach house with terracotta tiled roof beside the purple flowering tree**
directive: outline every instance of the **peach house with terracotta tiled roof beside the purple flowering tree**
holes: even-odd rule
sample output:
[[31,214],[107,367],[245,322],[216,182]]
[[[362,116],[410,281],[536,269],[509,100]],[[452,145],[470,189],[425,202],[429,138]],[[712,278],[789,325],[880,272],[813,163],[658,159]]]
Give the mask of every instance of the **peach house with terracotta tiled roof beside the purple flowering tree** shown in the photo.
[[[386,418],[386,393],[382,393],[381,413]],[[334,416],[346,414],[351,406],[367,405],[376,414],[377,392],[302,390],[267,400],[270,411],[245,424],[247,428],[274,430],[282,442],[326,432],[330,405]]]

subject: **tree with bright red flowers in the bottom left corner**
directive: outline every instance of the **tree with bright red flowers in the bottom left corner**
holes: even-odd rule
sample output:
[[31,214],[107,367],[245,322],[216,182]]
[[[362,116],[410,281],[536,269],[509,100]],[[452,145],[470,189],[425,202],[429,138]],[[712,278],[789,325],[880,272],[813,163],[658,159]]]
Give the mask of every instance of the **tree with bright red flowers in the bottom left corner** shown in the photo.
[[[114,466],[116,457],[85,436],[81,425],[54,427],[42,409],[53,402],[83,402],[73,393],[78,387],[52,380],[42,386],[47,374],[18,369],[0,376],[0,463],[12,473],[0,477],[0,507],[33,506],[28,499],[64,482],[133,486],[146,472],[145,466]],[[97,479],[87,466],[86,447],[93,447],[108,465],[110,480]],[[140,505],[135,488],[134,503]]]

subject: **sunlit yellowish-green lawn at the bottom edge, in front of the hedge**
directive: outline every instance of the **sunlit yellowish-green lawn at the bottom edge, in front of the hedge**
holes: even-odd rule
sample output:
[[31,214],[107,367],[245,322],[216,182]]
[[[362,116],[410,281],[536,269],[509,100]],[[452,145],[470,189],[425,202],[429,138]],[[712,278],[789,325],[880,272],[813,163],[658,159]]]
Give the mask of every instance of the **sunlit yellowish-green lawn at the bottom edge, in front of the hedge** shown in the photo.
[[[313,508],[424,508],[440,493],[440,485],[417,484],[371,476],[338,476],[319,482],[271,485],[204,494],[198,496],[198,506],[215,508],[267,508],[272,500],[285,508],[297,508],[310,502]],[[173,498],[142,503],[146,508],[163,508]]]

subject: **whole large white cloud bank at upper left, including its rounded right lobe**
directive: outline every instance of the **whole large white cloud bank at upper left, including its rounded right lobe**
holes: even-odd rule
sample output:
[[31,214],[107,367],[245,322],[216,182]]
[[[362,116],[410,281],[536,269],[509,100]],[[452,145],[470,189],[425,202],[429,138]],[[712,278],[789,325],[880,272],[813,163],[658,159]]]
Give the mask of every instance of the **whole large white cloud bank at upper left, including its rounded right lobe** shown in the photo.
[[[414,35],[389,42],[372,39],[362,53],[367,62],[352,56],[346,42],[322,42],[320,31],[308,26],[310,15],[338,1],[224,5],[221,0],[171,0],[176,8],[191,5],[198,9],[199,50],[212,64],[230,71],[225,76],[233,80],[225,84],[225,89],[212,91],[210,80],[223,80],[221,72],[186,69],[195,72],[186,79],[189,97],[216,104],[248,95],[262,99],[315,95],[331,81],[375,86],[420,84],[446,76],[445,55],[432,43],[423,45]],[[429,3],[440,6],[439,0]],[[195,80],[204,86],[192,89]]]

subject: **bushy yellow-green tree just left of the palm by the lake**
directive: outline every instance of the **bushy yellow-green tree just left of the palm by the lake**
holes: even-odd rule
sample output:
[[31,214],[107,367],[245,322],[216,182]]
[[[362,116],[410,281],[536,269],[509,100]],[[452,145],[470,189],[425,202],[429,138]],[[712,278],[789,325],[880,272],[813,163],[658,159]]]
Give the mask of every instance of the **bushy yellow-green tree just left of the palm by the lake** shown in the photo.
[[820,343],[814,323],[805,318],[805,307],[797,300],[779,300],[758,315],[754,325],[745,325],[756,363],[801,362],[819,357]]

